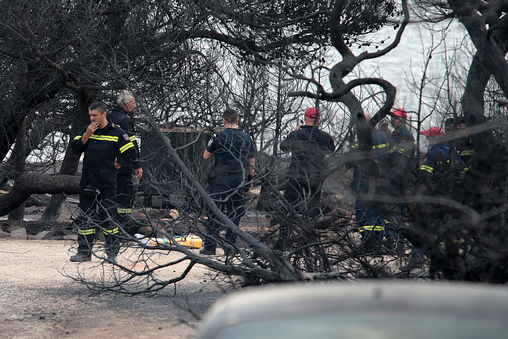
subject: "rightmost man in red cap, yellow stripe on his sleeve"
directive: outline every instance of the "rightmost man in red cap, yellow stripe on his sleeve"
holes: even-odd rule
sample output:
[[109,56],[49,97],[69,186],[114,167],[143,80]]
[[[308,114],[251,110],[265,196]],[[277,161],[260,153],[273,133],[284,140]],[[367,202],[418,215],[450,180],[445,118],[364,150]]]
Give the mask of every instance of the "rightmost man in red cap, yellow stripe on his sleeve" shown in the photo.
[[[460,158],[459,153],[442,141],[444,132],[439,127],[431,127],[426,131],[421,131],[420,134],[426,136],[430,148],[427,150],[427,156],[420,168],[417,184],[423,184],[425,192],[430,192],[430,195],[433,196],[442,196],[454,192],[454,181],[457,181],[456,178],[467,171],[467,167]],[[444,214],[447,213],[446,208],[437,204],[426,204],[426,209],[428,212],[424,216],[420,216],[420,219],[427,220],[434,226],[440,223]],[[436,234],[436,236],[439,236],[439,234]],[[409,262],[399,267],[399,269],[403,271],[422,268],[422,266],[421,252],[413,248]]]

